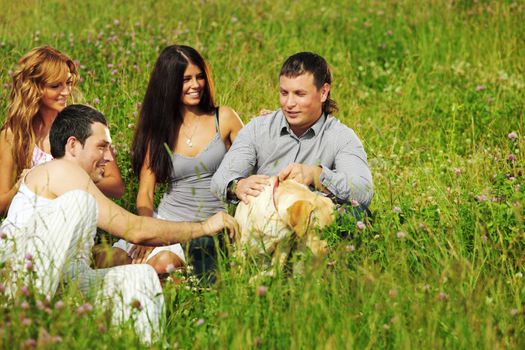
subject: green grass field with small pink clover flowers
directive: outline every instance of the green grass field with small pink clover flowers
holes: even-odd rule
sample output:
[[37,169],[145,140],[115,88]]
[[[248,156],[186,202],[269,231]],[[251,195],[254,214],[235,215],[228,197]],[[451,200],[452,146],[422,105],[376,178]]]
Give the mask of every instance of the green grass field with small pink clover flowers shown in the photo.
[[[42,44],[68,53],[80,64],[79,101],[111,122],[130,210],[131,127],[163,47],[200,50],[219,104],[245,122],[278,108],[289,55],[315,51],[333,68],[337,116],[368,153],[373,222],[326,230],[330,256],[307,261],[303,275],[249,283],[256,267],[226,259],[210,289],[167,286],[157,348],[525,348],[522,0],[0,0],[0,9],[0,121],[18,58]],[[85,302],[73,288],[50,303],[0,296],[0,347],[140,347],[103,310],[79,315]]]

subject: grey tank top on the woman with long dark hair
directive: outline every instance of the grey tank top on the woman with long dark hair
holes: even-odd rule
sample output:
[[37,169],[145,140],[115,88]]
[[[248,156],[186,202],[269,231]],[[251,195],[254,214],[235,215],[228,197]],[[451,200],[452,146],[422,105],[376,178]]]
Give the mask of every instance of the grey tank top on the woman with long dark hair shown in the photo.
[[158,207],[162,218],[198,221],[224,210],[224,204],[210,192],[211,178],[227,151],[219,132],[218,108],[215,129],[211,142],[195,157],[173,153],[173,176]]

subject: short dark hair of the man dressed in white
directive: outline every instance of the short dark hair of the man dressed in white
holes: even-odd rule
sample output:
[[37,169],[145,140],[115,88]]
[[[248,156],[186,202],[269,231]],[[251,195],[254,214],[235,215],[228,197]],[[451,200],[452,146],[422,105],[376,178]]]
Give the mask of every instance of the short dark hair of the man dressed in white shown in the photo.
[[102,113],[86,105],[70,105],[58,113],[49,132],[53,158],[64,156],[67,139],[71,136],[84,145],[86,139],[91,136],[91,124],[94,123],[108,125]]

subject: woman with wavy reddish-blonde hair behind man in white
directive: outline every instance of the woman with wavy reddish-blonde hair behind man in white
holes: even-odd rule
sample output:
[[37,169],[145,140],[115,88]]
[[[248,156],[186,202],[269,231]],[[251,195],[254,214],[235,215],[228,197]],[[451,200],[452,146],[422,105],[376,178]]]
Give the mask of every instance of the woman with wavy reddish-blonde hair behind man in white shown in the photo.
[[[73,61],[50,46],[37,47],[18,61],[0,129],[0,214],[7,212],[22,174],[52,159],[49,130],[77,81]],[[105,195],[123,195],[124,183],[114,161],[97,180]]]

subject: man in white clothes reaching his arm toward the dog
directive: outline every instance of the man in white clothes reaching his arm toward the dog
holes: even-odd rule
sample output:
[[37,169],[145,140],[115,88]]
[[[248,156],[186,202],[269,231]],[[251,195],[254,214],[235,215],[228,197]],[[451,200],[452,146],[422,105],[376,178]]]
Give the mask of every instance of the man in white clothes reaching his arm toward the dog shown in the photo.
[[[90,268],[97,226],[142,245],[166,245],[235,233],[235,220],[224,212],[204,222],[169,222],[137,216],[119,207],[93,183],[113,158],[111,138],[102,113],[71,105],[59,113],[50,132],[54,160],[33,168],[23,179],[0,232],[0,261],[11,273],[6,290],[14,296],[20,283],[33,283],[52,296],[60,282],[77,282],[84,293],[113,305],[113,321],[129,319],[139,303],[135,327],[149,342],[159,330],[164,300],[155,270],[150,265]],[[24,259],[31,259],[29,280]],[[26,275],[27,276],[27,275]],[[137,312],[137,311],[135,311]]]

